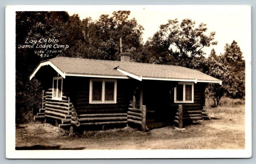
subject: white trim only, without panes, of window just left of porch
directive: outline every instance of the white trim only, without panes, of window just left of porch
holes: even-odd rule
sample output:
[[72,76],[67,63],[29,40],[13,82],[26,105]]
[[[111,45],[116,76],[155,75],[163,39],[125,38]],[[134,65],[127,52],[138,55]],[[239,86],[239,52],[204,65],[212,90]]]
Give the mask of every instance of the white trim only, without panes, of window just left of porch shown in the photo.
[[[102,101],[92,101],[92,81],[102,81]],[[114,84],[114,101],[105,101],[105,82],[115,82]],[[116,104],[116,79],[92,78],[90,79],[89,104]]]

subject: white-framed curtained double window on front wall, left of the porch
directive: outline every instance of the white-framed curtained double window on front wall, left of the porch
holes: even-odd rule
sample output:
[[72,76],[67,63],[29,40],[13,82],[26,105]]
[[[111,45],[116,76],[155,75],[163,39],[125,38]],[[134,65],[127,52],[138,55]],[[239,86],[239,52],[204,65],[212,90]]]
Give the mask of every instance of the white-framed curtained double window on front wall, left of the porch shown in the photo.
[[115,79],[91,79],[89,103],[116,103]]

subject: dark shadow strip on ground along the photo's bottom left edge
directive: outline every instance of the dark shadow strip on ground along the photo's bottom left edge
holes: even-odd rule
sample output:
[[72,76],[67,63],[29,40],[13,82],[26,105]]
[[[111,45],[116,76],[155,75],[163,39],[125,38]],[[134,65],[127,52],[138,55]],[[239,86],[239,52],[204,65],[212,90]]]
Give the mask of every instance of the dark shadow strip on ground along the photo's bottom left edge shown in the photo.
[[15,150],[83,150],[85,147],[72,147],[72,148],[61,148],[60,145],[57,146],[45,146],[45,145],[33,145],[33,146],[21,146],[15,147]]

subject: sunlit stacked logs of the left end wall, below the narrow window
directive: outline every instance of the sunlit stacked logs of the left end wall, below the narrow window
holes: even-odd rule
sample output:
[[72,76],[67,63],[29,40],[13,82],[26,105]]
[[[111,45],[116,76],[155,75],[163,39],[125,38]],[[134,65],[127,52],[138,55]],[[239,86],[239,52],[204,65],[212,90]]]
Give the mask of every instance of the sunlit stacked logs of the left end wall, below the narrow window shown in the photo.
[[56,120],[59,127],[70,126],[71,124],[75,126],[80,125],[80,123],[74,123],[78,121],[78,117],[76,117],[76,109],[70,101],[70,98],[62,95],[61,100],[53,100],[52,89],[48,89],[47,92],[45,92],[44,114],[46,118]]

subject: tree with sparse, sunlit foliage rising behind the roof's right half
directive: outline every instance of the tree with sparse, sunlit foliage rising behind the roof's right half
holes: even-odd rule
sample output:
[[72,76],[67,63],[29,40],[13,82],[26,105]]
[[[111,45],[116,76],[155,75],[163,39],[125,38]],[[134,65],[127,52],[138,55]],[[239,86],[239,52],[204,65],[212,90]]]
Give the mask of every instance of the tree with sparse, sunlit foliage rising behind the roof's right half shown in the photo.
[[191,19],[184,19],[180,23],[177,19],[168,20],[152,38],[155,48],[168,52],[172,62],[191,67],[193,59],[205,55],[202,48],[217,44],[217,41],[213,41],[215,32],[207,36],[206,24],[201,23],[198,27],[195,24]]

